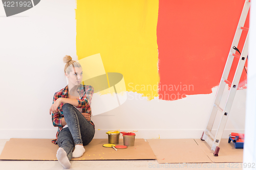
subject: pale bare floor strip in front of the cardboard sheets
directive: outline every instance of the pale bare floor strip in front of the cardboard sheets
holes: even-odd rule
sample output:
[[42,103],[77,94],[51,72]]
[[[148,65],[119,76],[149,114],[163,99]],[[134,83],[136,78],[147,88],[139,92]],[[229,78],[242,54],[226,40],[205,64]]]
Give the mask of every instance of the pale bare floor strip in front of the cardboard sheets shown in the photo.
[[[6,141],[0,139],[0,154]],[[70,169],[242,169],[241,163],[172,163],[159,164],[157,160],[114,160],[114,161],[71,161]],[[234,168],[237,167],[237,168]],[[9,170],[39,170],[39,169],[63,169],[58,161],[6,161],[0,160],[0,169]]]

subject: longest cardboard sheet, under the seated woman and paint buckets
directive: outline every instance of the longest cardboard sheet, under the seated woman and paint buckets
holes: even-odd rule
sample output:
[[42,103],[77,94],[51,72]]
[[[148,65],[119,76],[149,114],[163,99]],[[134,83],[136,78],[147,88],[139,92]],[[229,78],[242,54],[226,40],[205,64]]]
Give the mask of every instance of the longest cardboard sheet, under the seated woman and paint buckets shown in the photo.
[[[57,160],[58,145],[52,139],[20,139],[11,138],[6,142],[0,155],[2,160]],[[80,158],[71,160],[139,160],[156,159],[150,145],[144,139],[135,139],[134,147],[118,149],[102,147],[108,139],[93,139],[84,146],[86,152]],[[119,140],[123,144],[123,139]]]

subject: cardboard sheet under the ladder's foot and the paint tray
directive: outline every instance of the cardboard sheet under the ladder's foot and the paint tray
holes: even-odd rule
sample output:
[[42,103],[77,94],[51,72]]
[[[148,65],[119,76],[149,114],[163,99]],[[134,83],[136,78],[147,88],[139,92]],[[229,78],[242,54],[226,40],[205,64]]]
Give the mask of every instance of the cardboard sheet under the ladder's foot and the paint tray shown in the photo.
[[195,140],[212,162],[243,162],[243,149],[235,149],[232,142],[228,143],[228,139],[221,139],[219,156],[214,156],[214,151],[210,150],[211,147],[206,141]]

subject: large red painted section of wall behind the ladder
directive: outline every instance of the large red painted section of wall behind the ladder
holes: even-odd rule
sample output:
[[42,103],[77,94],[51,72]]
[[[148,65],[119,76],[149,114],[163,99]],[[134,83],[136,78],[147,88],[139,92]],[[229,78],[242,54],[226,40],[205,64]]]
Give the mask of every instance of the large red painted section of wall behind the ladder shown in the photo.
[[[244,2],[159,1],[159,99],[178,100],[191,94],[209,94],[219,85]],[[246,33],[242,37],[244,41]],[[241,45],[238,48],[242,51]],[[237,63],[234,58],[229,81]],[[240,82],[245,80],[243,71]]]

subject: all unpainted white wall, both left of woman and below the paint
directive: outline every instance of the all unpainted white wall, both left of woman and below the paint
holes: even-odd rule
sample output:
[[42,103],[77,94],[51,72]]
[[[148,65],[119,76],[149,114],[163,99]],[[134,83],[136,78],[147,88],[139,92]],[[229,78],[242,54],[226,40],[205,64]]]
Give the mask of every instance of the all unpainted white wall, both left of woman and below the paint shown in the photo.
[[[5,17],[0,5],[0,138],[55,138],[49,108],[54,92],[66,86],[63,56],[76,59],[75,8],[75,1],[45,0]],[[147,101],[128,92],[123,105],[92,117],[95,138],[116,129],[139,130],[137,138],[200,138],[217,87],[212,91],[178,101]],[[245,98],[246,90],[238,90],[223,138],[244,133]]]

